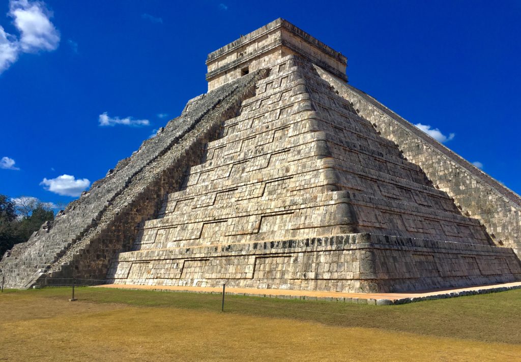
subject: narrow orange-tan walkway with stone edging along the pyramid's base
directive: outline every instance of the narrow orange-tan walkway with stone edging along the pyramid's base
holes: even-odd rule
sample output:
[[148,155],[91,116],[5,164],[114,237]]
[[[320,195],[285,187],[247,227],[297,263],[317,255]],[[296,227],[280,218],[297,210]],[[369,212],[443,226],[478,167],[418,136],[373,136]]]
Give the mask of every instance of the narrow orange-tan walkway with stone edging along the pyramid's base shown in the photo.
[[[222,293],[222,288],[199,286],[170,286],[170,285],[133,285],[133,284],[104,284],[96,288],[117,288],[132,290],[154,290],[170,292],[195,293]],[[467,288],[438,289],[408,293],[337,293],[282,289],[253,289],[253,288],[226,288],[226,294],[262,296],[284,299],[308,299],[321,301],[339,301],[355,304],[404,304],[419,302],[427,299],[441,299],[464,295],[501,292],[511,289],[521,289],[521,282],[478,285]]]

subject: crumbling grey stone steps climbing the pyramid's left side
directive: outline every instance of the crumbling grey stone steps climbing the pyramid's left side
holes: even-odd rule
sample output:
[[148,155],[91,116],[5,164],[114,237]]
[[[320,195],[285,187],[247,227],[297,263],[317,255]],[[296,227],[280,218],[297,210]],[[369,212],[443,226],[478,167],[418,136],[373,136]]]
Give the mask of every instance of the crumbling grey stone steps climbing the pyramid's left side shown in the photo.
[[[151,168],[156,160],[165,155],[172,146],[180,143],[208,113],[226,103],[226,99],[244,93],[246,84],[253,84],[248,89],[252,86],[254,89],[252,80],[256,74],[258,76],[259,72],[191,99],[180,117],[169,121],[155,137],[144,141],[132,156],[119,161],[114,169],[107,172],[104,179],[94,182],[89,191],[60,211],[52,224],[42,226],[28,242],[15,245],[0,261],[0,269],[6,278],[6,288],[29,288],[37,281],[47,279],[47,282],[52,283],[49,276],[54,276],[55,279],[70,277],[71,265],[82,258],[85,249],[89,249],[89,245],[81,243],[85,236],[100,233],[102,230],[110,233],[110,223],[114,219],[131,212],[129,206],[133,201],[146,198],[144,195],[148,183],[142,180],[143,170]],[[199,149],[196,151],[200,153]],[[179,172],[182,173],[183,170]],[[175,181],[170,181],[172,185],[175,184]],[[130,186],[132,192],[129,192]],[[155,196],[157,195],[148,203],[148,207],[152,209],[157,208]],[[103,228],[100,226],[102,221],[105,223]],[[133,227],[130,229],[133,232]],[[125,245],[120,243],[120,247]],[[62,266],[70,269],[65,277],[60,273]],[[81,273],[81,270],[75,270],[75,273]]]

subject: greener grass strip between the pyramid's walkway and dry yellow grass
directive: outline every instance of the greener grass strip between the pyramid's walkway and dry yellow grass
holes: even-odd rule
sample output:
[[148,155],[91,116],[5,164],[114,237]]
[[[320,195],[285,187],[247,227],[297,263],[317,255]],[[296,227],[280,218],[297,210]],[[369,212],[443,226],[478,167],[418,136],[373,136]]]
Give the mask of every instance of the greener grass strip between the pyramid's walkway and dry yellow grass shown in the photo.
[[[4,304],[2,308],[8,312],[9,299],[13,303],[38,299],[42,307],[45,307],[46,299],[68,299],[70,292],[70,288],[6,290],[0,295],[0,305]],[[78,287],[76,297],[79,299],[76,303],[86,301],[213,312],[220,311],[221,308],[219,294]],[[225,313],[312,321],[328,326],[374,328],[481,342],[521,344],[521,290],[396,306],[226,295]]]

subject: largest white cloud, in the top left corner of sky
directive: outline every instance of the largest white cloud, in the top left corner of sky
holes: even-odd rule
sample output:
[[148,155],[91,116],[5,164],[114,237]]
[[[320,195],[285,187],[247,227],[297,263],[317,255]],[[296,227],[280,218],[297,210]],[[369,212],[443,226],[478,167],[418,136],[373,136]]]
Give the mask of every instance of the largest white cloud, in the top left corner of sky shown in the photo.
[[13,18],[20,36],[8,34],[0,26],[0,74],[22,53],[50,52],[58,47],[60,34],[49,20],[53,15],[43,2],[11,0],[7,15]]

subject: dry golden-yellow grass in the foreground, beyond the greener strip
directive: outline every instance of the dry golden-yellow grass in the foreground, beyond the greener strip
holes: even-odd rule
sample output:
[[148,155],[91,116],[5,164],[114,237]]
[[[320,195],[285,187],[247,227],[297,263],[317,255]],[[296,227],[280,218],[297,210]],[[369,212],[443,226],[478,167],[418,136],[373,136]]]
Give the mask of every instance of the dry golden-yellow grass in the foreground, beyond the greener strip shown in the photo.
[[200,309],[7,293],[0,360],[521,360],[486,343]]

